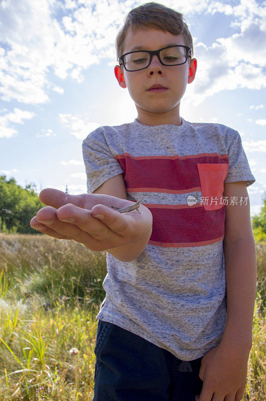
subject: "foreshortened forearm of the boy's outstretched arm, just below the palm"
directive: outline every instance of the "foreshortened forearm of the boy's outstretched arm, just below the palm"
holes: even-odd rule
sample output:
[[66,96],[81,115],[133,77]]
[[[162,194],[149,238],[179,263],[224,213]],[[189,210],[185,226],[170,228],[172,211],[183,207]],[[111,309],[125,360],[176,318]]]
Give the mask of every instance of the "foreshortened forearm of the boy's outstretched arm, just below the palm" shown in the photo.
[[141,238],[140,241],[121,245],[116,248],[106,249],[106,252],[114,256],[121,262],[131,262],[132,260],[138,258],[139,255],[145,250],[148,240],[151,235],[152,228],[150,229],[147,236]]

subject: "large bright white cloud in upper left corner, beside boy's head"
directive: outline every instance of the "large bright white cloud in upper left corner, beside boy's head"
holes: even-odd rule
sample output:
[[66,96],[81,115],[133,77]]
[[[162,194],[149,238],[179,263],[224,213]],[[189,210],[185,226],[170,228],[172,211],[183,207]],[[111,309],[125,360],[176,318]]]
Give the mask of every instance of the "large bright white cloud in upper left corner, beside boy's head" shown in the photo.
[[[80,83],[82,69],[103,57],[115,58],[117,26],[134,0],[125,3],[121,7],[119,2],[107,0],[94,4],[70,0],[65,4],[52,0],[0,2],[2,99],[47,102],[47,73],[54,72],[61,79],[69,76]],[[68,16],[59,17],[63,12]]]

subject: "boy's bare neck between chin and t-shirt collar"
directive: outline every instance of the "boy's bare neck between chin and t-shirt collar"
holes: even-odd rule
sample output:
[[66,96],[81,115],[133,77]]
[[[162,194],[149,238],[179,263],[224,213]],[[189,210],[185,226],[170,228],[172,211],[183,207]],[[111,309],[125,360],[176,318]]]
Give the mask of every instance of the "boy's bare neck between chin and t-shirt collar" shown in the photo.
[[181,125],[182,121],[179,115],[179,104],[178,107],[174,107],[172,110],[165,111],[162,113],[152,113],[147,110],[141,109],[139,106],[136,106],[137,110],[137,118],[136,120],[143,125]]

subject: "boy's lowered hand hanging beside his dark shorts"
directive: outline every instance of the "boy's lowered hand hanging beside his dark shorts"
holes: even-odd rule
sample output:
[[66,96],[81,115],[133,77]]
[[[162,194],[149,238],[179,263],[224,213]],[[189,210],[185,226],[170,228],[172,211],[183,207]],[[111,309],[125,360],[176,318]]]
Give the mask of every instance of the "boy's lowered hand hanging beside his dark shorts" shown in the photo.
[[218,344],[201,359],[199,378],[203,381],[195,401],[240,401],[244,392],[249,351]]

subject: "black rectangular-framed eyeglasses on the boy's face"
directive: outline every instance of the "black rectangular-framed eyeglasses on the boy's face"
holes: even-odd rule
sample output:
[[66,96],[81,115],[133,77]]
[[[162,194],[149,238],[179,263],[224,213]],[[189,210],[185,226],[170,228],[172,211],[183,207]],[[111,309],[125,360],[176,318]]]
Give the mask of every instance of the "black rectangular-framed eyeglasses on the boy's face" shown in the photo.
[[[188,52],[190,55],[188,56]],[[126,71],[139,71],[147,68],[153,55],[156,55],[163,66],[179,66],[184,64],[187,56],[191,57],[191,48],[183,45],[166,46],[159,50],[136,50],[122,54],[118,58],[119,65],[123,64]]]

